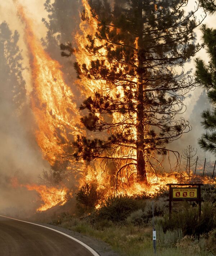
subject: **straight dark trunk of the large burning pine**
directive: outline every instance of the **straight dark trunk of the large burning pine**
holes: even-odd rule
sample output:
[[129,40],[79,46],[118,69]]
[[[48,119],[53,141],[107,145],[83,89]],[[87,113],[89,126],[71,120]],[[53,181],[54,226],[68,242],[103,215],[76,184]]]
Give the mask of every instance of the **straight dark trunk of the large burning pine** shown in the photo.
[[137,178],[138,181],[147,183],[146,164],[144,156],[144,95],[143,95],[143,57],[141,51],[143,49],[143,0],[138,2],[139,27],[138,27],[138,105],[137,105]]

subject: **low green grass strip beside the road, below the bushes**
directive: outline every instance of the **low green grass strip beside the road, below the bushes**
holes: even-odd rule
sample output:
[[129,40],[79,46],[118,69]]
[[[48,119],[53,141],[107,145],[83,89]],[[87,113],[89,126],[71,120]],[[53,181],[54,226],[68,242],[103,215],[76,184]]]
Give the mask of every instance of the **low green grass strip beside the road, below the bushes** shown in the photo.
[[[89,221],[79,220],[69,215],[58,216],[50,224],[59,225],[83,235],[101,239],[111,245],[113,251],[120,255],[143,256],[154,255],[152,245],[152,227],[117,225],[109,223],[108,227],[96,228]],[[157,229],[157,227],[156,227]],[[162,238],[161,231],[157,230],[157,255],[161,256],[213,256],[214,253],[206,250],[207,236],[194,239],[190,236],[181,237],[175,233],[166,233]]]

